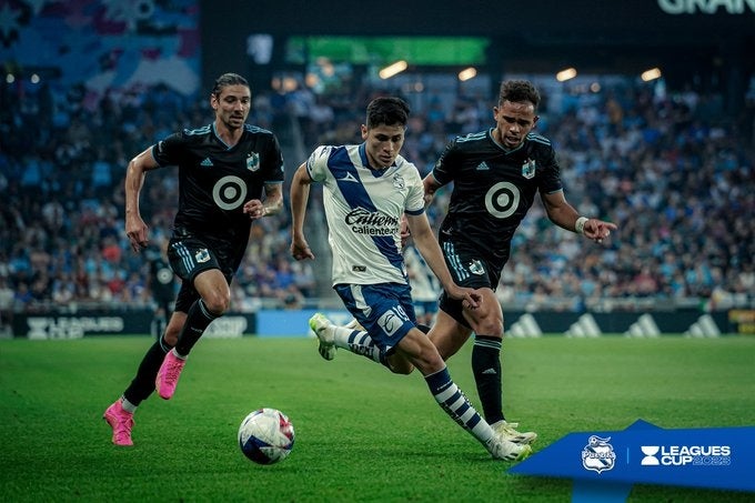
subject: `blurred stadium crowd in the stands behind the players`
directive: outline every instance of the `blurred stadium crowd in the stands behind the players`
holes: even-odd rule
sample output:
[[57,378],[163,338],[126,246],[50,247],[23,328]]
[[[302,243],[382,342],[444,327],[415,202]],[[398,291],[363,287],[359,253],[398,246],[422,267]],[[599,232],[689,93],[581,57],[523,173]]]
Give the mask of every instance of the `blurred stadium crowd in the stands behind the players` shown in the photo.
[[[275,131],[276,117],[294,115],[305,150],[359,141],[362,103],[381,92],[262,92],[249,121]],[[204,100],[162,85],[92,97],[83,87],[61,94],[44,84],[3,84],[0,318],[51,304],[150,305],[149,264],[130,251],[123,232],[128,155],[185,124],[209,122]],[[544,222],[536,204],[514,239],[501,300],[533,310],[583,310],[606,299],[752,305],[753,101],[727,119],[715,93],[627,83],[566,93],[557,107],[545,107],[537,132],[556,147],[570,201],[620,231],[603,245],[582,241]],[[486,98],[427,102],[413,111],[403,152],[423,174],[454,134],[492,125]],[[285,161],[292,170],[302,160]],[[161,179],[141,203],[155,247],[178,201],[177,179],[164,171],[149,174]],[[435,224],[443,195],[429,210]],[[311,265],[289,256],[286,215],[260,221],[253,234],[234,280],[236,309],[253,310],[262,300],[295,306],[316,292]]]

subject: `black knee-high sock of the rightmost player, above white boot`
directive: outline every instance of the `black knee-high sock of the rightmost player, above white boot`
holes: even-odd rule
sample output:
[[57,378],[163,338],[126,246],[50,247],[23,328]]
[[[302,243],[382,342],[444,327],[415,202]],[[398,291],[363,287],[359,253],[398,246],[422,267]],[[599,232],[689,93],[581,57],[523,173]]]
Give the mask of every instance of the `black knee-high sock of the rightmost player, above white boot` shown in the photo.
[[475,335],[472,348],[472,373],[477,384],[477,394],[485,420],[490,424],[503,420],[500,338]]

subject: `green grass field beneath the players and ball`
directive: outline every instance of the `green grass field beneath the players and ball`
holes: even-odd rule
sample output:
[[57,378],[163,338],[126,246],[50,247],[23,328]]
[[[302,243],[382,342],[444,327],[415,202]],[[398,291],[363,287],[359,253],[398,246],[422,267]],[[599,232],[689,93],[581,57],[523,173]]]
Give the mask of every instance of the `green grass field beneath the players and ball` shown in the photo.
[[[430,396],[306,339],[207,340],[175,396],[137,412],[133,447],[110,443],[104,409],[144,336],[0,341],[0,501],[568,502],[571,481],[509,475]],[[451,373],[477,404],[470,348]],[[755,339],[542,338],[504,343],[506,415],[535,451],[571,432],[755,425]],[[280,464],[238,450],[250,411],[273,406],[296,440]],[[631,502],[754,501],[755,494],[638,485]]]

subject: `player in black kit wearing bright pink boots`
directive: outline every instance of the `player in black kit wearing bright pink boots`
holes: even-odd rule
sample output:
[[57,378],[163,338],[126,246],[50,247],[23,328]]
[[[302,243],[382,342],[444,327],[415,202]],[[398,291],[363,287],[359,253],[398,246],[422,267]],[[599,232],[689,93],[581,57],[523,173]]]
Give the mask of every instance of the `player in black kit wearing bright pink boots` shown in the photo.
[[104,412],[115,445],[132,445],[137,406],[157,389],[169,400],[187,356],[212,320],[229,309],[230,283],[243,259],[252,222],[283,208],[283,155],[275,135],[246,124],[251,89],[235,73],[210,93],[214,122],[185,129],[149,147],[125,174],[125,233],[135,252],[149,245],[139,211],[148,171],[178,165],[179,208],[168,247],[181,290],[165,333],[143,356],[137,375]]

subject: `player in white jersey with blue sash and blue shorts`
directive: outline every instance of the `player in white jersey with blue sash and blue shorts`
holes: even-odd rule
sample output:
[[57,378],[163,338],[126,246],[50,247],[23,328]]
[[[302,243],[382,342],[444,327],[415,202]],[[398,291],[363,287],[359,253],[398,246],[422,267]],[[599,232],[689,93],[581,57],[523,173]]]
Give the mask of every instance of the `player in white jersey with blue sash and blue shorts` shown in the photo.
[[[477,293],[451,279],[424,213],[424,191],[416,167],[399,152],[404,143],[409,105],[399,98],[370,102],[361,144],[322,145],[293,175],[291,184],[291,254],[314,259],[303,225],[310,185],[323,183],[323,203],[333,253],[333,289],[381,350],[378,361],[405,373],[416,368],[443,411],[480,441],[496,459],[521,460],[532,449],[495,434],[452,381],[432,342],[416,328],[401,254],[400,221],[406,213],[414,243],[449,296],[477,308]],[[321,314],[310,320],[320,352],[335,353],[335,330]],[[359,353],[360,346],[349,346]]]

